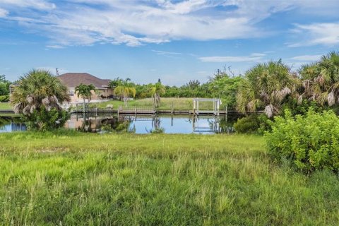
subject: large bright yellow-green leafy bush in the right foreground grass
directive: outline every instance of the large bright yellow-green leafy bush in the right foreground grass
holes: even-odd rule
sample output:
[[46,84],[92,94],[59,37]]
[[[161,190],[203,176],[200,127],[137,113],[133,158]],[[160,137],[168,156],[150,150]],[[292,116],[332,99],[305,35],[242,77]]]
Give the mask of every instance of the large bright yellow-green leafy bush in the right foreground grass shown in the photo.
[[333,111],[309,109],[306,115],[275,117],[266,133],[269,153],[278,162],[288,162],[303,172],[339,169],[339,118]]

